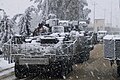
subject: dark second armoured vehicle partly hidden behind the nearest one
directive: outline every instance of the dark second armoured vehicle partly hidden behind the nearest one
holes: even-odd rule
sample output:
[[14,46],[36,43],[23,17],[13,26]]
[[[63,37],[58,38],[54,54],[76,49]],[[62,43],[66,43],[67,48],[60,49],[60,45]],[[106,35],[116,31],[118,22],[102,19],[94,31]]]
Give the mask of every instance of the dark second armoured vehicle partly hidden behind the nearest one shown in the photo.
[[90,51],[94,49],[94,37],[93,34],[89,35],[88,32],[81,31],[80,32],[80,39],[81,39],[81,45],[83,49],[81,50],[82,52],[80,53],[80,63],[83,63],[84,61],[89,60],[90,58]]

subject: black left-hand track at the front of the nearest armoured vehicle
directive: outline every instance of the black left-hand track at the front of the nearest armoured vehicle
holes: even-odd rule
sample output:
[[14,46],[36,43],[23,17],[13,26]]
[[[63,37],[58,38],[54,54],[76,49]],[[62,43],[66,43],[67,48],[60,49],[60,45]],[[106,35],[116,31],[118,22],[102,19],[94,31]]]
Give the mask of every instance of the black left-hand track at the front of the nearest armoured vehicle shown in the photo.
[[15,76],[19,79],[26,77],[27,70],[25,66],[15,63]]

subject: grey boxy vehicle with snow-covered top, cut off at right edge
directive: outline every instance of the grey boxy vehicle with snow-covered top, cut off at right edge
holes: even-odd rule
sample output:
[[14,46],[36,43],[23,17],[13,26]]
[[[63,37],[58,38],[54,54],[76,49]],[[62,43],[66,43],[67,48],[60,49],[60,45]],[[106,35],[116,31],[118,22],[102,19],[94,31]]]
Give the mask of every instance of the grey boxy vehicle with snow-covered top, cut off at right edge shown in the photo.
[[117,74],[120,76],[120,35],[106,35],[103,38],[104,57],[117,64]]

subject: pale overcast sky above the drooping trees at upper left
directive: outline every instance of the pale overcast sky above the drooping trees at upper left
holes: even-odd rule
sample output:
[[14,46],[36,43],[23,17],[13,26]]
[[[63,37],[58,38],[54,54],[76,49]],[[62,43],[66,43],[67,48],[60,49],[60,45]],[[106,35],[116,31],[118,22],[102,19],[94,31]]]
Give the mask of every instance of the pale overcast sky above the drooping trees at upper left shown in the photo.
[[24,13],[31,4],[30,0],[0,0],[0,8],[4,9],[10,17],[17,13]]

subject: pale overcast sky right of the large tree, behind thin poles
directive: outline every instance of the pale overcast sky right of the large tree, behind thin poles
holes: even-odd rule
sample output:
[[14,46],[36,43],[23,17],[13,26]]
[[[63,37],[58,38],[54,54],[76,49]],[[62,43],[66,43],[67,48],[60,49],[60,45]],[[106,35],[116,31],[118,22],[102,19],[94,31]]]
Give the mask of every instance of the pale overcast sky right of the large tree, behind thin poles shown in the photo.
[[97,19],[104,19],[104,12],[105,12],[105,19],[106,23],[111,22],[111,1],[112,1],[112,22],[113,25],[120,25],[120,10],[119,10],[119,0],[87,0],[89,3],[89,8],[92,10],[92,13],[89,15],[93,20],[93,13],[94,13],[94,2],[96,3],[96,18]]

